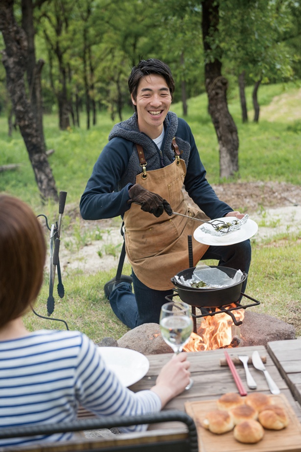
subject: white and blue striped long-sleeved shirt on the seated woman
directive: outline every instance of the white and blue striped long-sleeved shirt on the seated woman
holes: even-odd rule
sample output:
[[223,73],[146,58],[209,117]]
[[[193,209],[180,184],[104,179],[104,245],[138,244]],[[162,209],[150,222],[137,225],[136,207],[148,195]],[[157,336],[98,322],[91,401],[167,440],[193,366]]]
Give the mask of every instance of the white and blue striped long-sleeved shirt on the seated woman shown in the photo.
[[[79,404],[99,416],[161,409],[153,391],[124,388],[85,334],[40,330],[0,341],[0,428],[69,422]],[[71,438],[72,433],[57,433],[3,439],[0,446]]]

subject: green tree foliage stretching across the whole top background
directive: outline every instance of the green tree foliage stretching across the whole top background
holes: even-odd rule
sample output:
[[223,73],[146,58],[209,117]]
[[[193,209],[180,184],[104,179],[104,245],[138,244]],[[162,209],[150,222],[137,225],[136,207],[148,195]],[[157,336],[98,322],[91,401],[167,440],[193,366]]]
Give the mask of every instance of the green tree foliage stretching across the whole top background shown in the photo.
[[[249,82],[300,77],[301,8],[297,0],[219,0],[218,33],[204,55],[201,2],[195,0],[52,0],[34,7],[37,59],[42,71],[43,104],[58,110],[66,91],[80,112],[95,101],[113,119],[129,102],[128,73],[140,58],[161,58],[176,79],[174,100],[205,90],[205,61],[221,58],[223,74]],[[216,2],[212,2],[216,4]],[[15,8],[21,21],[21,8]],[[4,44],[0,36],[0,48]],[[0,109],[9,111],[0,69]],[[86,118],[85,118],[86,119]]]

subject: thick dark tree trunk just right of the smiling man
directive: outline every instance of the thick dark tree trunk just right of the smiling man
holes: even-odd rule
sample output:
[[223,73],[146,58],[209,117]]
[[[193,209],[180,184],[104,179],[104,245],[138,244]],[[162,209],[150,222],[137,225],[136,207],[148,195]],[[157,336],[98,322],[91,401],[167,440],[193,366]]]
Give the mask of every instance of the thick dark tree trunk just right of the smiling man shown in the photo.
[[[205,56],[207,56],[208,53],[212,53],[210,38],[218,33],[218,3],[215,0],[202,1],[202,9],[203,43]],[[221,49],[216,48],[213,61],[207,58],[205,84],[208,94],[208,111],[219,143],[220,177],[228,178],[238,171],[238,134],[228,110],[228,81],[221,73],[221,56]]]

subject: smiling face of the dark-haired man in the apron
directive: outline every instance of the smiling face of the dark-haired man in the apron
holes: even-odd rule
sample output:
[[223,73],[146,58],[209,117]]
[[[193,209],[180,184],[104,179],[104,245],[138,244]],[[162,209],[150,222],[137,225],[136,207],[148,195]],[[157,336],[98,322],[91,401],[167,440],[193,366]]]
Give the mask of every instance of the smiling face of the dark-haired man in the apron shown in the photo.
[[164,77],[157,74],[141,77],[137,99],[132,95],[132,102],[137,106],[140,132],[152,139],[159,137],[171,104],[171,94]]

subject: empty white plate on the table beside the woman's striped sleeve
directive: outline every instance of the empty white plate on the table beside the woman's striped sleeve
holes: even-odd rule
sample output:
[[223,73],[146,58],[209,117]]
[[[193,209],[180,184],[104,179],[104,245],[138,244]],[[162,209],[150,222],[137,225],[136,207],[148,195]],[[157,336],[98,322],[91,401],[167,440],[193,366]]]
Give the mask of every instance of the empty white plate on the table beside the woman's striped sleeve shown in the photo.
[[98,347],[98,352],[125,387],[137,383],[149,369],[147,357],[135,350],[122,347]]

